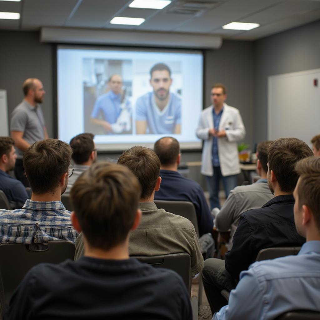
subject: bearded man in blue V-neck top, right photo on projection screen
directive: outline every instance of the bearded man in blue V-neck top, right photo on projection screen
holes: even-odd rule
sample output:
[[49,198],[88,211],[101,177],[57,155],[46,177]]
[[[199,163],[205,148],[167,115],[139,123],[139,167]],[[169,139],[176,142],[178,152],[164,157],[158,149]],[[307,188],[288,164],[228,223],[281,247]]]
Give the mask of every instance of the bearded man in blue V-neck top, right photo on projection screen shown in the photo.
[[136,103],[137,134],[181,133],[181,99],[170,92],[170,68],[157,63],[150,76],[153,92],[144,94]]

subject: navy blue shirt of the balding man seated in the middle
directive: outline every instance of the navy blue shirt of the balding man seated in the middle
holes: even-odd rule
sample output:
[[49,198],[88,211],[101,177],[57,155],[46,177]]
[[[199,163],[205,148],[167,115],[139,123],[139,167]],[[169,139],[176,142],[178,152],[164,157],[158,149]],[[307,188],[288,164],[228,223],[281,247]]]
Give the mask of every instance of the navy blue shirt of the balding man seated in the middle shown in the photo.
[[200,185],[172,170],[160,170],[160,177],[160,190],[155,192],[155,200],[192,202],[196,208],[200,236],[212,232],[212,215]]

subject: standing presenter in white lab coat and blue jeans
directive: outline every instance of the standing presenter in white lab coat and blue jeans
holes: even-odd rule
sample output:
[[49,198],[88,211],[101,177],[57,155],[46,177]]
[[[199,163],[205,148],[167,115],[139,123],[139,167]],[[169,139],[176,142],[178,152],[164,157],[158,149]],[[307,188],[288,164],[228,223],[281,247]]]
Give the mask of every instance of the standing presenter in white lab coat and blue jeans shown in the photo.
[[228,106],[227,90],[223,84],[211,89],[212,105],[205,108],[200,117],[196,135],[204,140],[201,173],[205,175],[211,209],[220,209],[220,179],[228,197],[237,186],[240,173],[237,141],[245,136],[244,124],[238,109]]

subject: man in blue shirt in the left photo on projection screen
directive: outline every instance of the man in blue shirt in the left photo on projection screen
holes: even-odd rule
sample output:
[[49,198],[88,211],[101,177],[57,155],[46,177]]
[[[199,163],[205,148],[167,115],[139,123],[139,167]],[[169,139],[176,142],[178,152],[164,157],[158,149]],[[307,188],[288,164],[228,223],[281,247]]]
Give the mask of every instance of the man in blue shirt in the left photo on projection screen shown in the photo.
[[[93,107],[91,113],[91,122],[104,127],[107,133],[121,133],[114,132],[112,124],[116,124],[118,117],[121,114],[123,103],[122,96],[122,78],[119,75],[113,75],[108,81],[110,91],[100,95]],[[130,110],[130,102],[125,101],[125,107]],[[100,118],[100,115],[103,118]],[[124,128],[125,129],[125,128]]]

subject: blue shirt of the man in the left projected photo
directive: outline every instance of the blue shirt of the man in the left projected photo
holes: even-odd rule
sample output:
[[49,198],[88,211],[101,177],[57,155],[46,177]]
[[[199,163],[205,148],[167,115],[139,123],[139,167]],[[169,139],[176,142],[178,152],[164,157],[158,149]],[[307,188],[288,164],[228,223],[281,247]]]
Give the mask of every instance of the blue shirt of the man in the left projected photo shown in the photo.
[[[121,94],[115,94],[111,90],[108,93],[99,96],[94,104],[91,117],[98,118],[102,112],[104,120],[110,124],[117,122],[117,118],[121,113]],[[130,102],[126,101],[126,107],[130,109]]]

